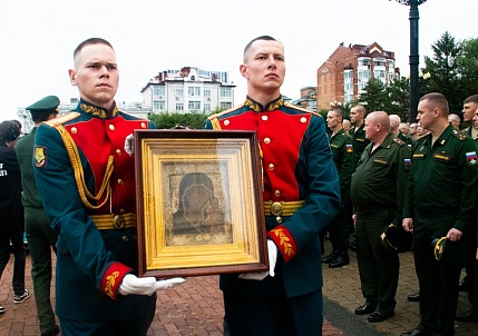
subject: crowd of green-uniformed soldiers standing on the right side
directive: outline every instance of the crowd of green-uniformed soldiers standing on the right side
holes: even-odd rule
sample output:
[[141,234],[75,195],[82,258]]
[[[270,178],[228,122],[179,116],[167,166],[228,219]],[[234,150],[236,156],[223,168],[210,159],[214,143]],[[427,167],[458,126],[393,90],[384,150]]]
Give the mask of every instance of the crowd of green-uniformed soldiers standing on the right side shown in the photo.
[[[445,96],[429,93],[420,99],[418,122],[367,115],[360,105],[350,120],[332,108],[326,121],[342,211],[320,236],[322,247],[325,237],[332,245],[322,263],[348,265],[345,246],[357,250],[365,303],[355,314],[370,323],[394,315],[398,253],[412,249],[420,291],[408,299],[420,303],[420,324],[402,335],[453,335],[455,319],[477,322],[478,95],[465,99],[462,120]],[[456,315],[459,290],[469,290],[472,308]]]

